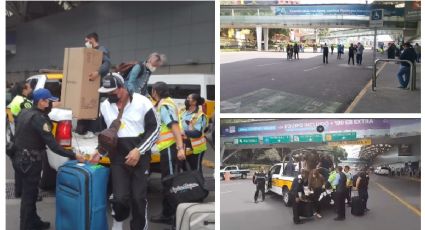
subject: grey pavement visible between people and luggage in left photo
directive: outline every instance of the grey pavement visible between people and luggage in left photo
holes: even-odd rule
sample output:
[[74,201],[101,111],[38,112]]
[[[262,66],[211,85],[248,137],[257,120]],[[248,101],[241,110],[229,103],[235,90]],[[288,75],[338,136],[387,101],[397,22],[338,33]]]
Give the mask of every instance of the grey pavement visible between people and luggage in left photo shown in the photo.
[[[204,156],[205,160],[210,164],[214,162],[214,149],[211,145],[208,144],[208,150]],[[214,202],[215,192],[214,192],[214,169],[203,167],[203,173],[206,180],[206,187],[210,191],[209,196],[205,200],[206,202]],[[13,188],[14,188],[14,177],[13,169],[10,163],[10,160],[7,158],[6,162],[6,187],[7,187],[7,199],[6,199],[6,229],[7,230],[19,230],[19,208],[20,208],[20,199],[14,199]],[[154,173],[150,176],[149,179],[149,190],[148,190],[148,216],[157,215],[161,211],[161,179],[160,175]],[[39,216],[44,221],[49,221],[51,223],[50,229],[55,229],[55,205],[56,200],[53,193],[43,192],[43,201],[37,203],[37,212]],[[108,215],[109,226],[111,226],[112,219]],[[130,229],[129,220],[126,220],[124,223],[124,229]],[[154,224],[149,223],[149,229],[152,230],[163,230],[170,229],[169,226],[163,224]]]

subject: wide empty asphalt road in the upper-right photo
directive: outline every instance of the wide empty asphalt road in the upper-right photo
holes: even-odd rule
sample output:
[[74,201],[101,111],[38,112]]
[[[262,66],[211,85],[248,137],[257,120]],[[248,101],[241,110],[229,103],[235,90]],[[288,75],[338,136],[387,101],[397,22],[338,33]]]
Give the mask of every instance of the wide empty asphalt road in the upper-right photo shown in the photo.
[[[300,53],[286,60],[282,52],[222,52],[221,111],[247,112],[343,112],[371,79],[372,51],[361,66],[348,65],[329,54]],[[379,57],[379,56],[378,56]]]

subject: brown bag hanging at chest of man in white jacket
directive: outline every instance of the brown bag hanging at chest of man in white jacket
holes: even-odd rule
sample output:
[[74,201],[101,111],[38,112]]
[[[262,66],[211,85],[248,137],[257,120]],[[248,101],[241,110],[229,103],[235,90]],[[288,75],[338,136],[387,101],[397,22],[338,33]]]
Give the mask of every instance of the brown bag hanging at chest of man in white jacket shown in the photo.
[[108,155],[112,155],[117,151],[117,144],[118,144],[118,130],[121,126],[121,118],[123,114],[124,109],[120,109],[118,113],[118,118],[112,121],[109,128],[103,130],[99,133],[97,136],[97,140],[99,143],[99,152],[105,153],[107,152]]

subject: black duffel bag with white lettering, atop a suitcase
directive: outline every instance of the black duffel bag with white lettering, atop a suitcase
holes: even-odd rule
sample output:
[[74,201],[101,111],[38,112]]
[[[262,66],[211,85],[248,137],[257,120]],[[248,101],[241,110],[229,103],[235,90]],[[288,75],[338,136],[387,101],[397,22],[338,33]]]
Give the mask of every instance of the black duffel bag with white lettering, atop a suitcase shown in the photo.
[[165,199],[173,210],[176,210],[180,203],[202,202],[209,193],[204,187],[201,172],[191,171],[186,161],[185,166],[189,171],[180,172],[182,168],[179,163],[182,162],[177,162],[176,173],[162,180]]

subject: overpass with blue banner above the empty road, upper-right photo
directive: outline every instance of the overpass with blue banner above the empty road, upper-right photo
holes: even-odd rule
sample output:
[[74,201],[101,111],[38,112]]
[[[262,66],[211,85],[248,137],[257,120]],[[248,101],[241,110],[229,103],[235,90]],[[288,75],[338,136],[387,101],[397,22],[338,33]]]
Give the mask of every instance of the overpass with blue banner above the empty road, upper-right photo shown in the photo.
[[[221,28],[256,28],[257,47],[261,41],[268,41],[269,28],[350,28],[363,29],[365,35],[353,31],[353,36],[370,36],[369,18],[373,9],[384,9],[382,30],[390,34],[405,34],[414,37],[420,34],[420,22],[405,20],[403,8],[393,5],[367,4],[321,4],[321,5],[249,5],[221,6]],[[383,32],[379,32],[384,34]],[[327,36],[334,38],[338,35]],[[372,34],[373,35],[373,34]],[[312,35],[316,37],[316,34]],[[343,36],[348,36],[344,34]],[[268,50],[268,43],[264,42]]]

